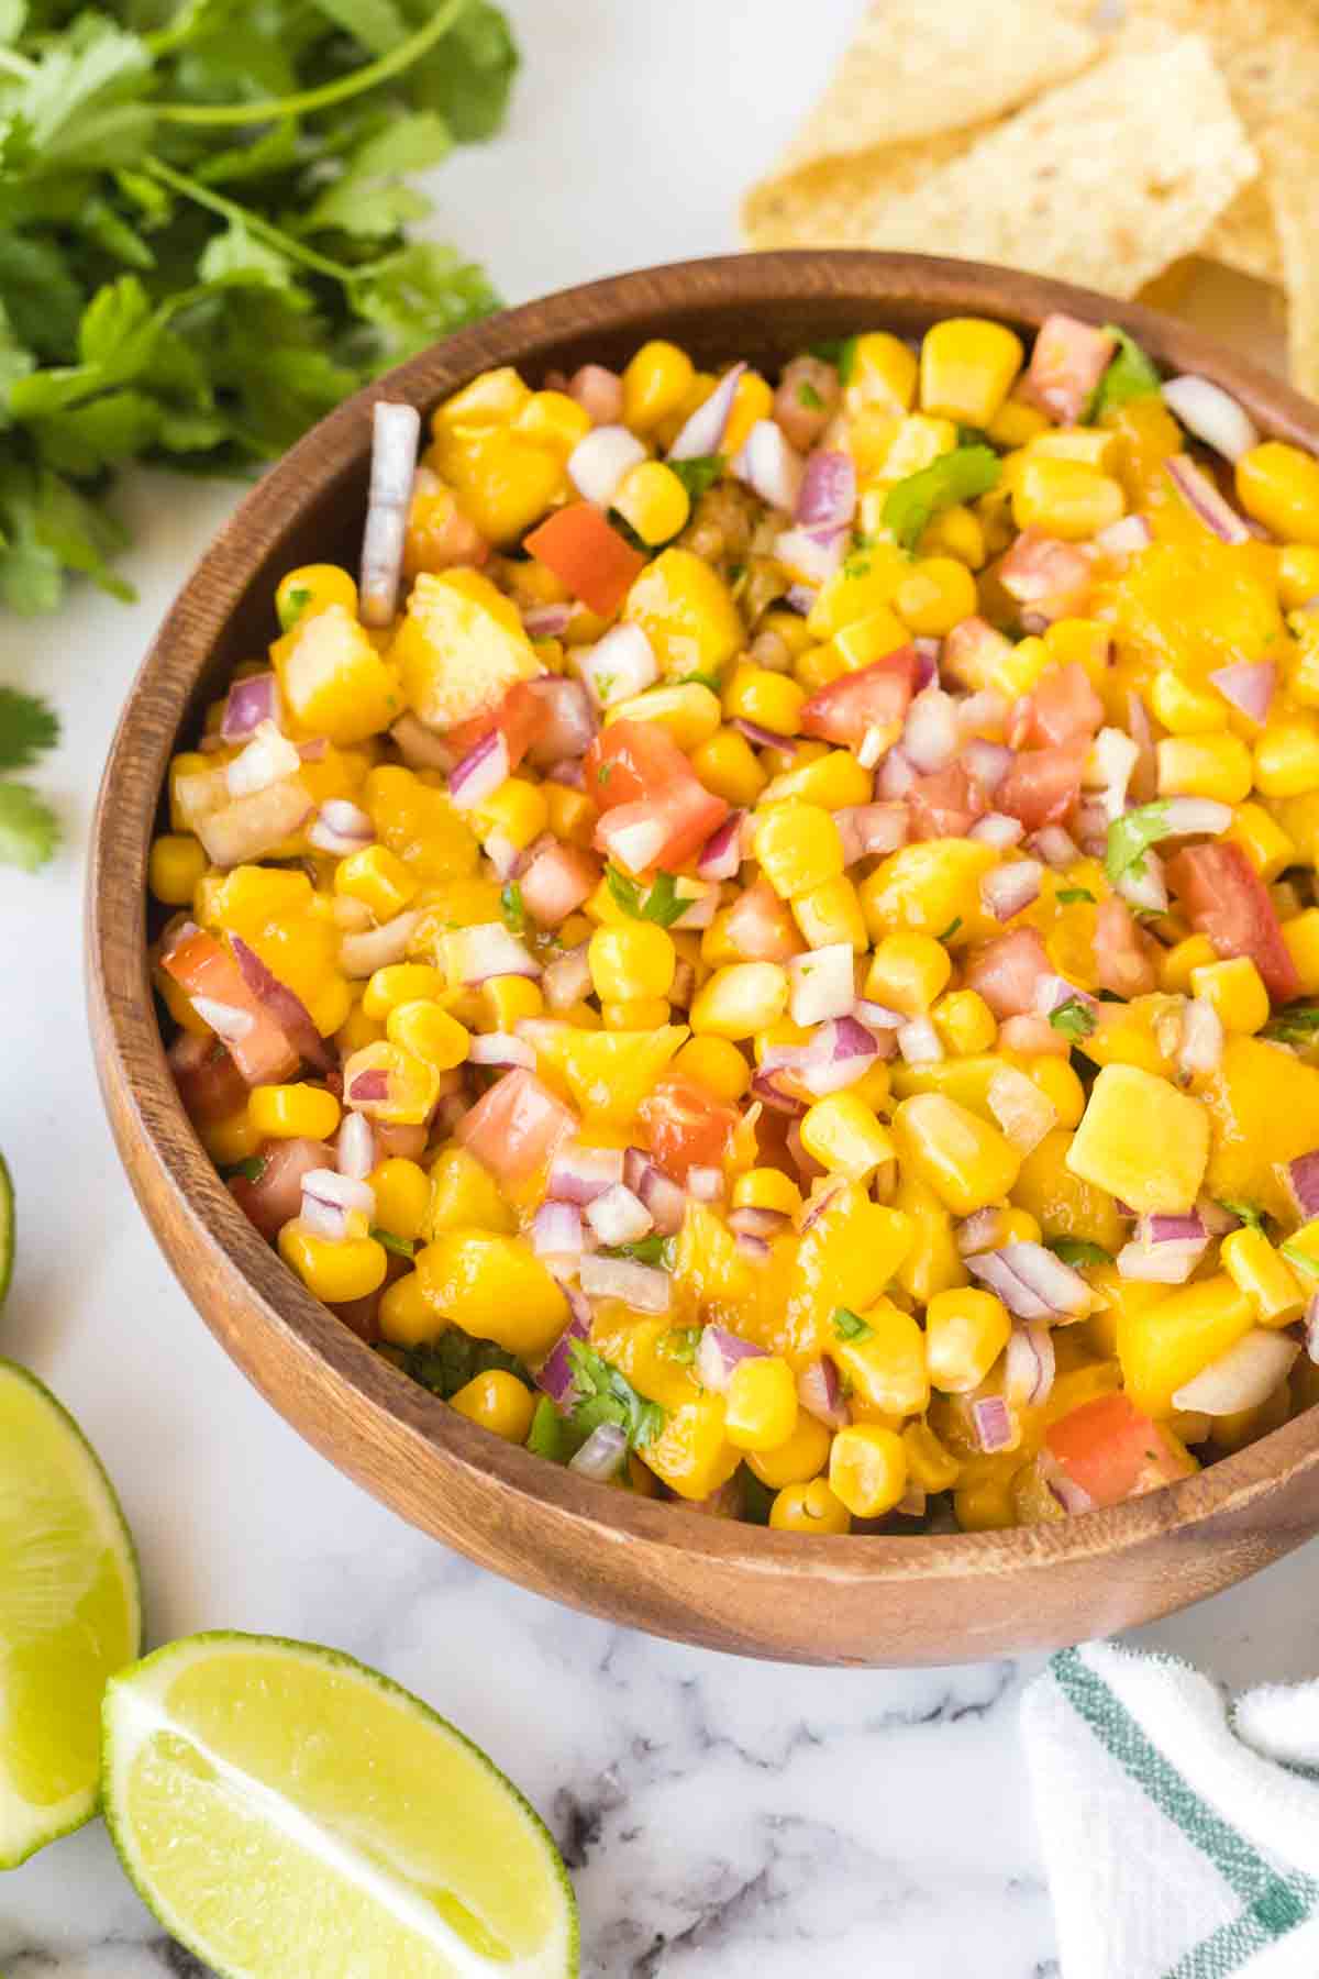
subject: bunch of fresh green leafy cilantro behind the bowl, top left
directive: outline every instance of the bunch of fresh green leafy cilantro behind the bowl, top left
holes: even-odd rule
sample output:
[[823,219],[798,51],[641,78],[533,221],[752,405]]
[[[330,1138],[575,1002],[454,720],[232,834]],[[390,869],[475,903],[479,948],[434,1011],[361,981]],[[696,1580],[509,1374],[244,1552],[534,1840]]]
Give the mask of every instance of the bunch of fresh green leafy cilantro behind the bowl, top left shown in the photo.
[[271,459],[496,305],[403,230],[514,69],[488,0],[0,0],[0,606],[129,596],[127,461]]

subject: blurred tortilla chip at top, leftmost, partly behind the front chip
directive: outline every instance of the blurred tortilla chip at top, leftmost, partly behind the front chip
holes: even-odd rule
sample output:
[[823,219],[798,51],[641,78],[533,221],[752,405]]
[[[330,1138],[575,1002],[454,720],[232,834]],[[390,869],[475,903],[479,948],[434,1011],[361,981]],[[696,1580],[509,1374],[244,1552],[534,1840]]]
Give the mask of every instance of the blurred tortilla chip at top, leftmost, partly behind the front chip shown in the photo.
[[[870,0],[819,105],[746,198],[753,247],[846,239],[850,210],[920,184],[971,135],[1103,51],[1090,0],[975,6]],[[951,133],[965,133],[953,139]]]

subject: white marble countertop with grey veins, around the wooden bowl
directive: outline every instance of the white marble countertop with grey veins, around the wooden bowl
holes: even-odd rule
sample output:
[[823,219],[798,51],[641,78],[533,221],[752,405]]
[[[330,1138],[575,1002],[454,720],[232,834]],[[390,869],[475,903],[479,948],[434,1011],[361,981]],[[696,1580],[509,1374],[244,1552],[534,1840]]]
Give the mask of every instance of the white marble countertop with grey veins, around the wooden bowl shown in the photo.
[[[736,198],[823,81],[856,0],[512,0],[510,129],[437,176],[439,226],[510,301],[736,245]],[[484,1745],[575,1872],[591,1979],[1044,1979],[1048,1896],[1016,1738],[1028,1670],[829,1672],[609,1629],[445,1554],[247,1387],[129,1193],[81,999],[81,853],[105,746],[164,606],[233,489],[138,477],[132,608],[89,590],[0,619],[0,677],[47,691],[67,849],[0,871],[0,1146],[20,1255],[0,1352],[77,1413],[136,1532],[148,1629],[308,1637]],[[1141,1639],[1230,1682],[1313,1674],[1313,1548]],[[949,1645],[955,1650],[955,1645]],[[194,1973],[99,1825],[0,1878],[6,1979]]]

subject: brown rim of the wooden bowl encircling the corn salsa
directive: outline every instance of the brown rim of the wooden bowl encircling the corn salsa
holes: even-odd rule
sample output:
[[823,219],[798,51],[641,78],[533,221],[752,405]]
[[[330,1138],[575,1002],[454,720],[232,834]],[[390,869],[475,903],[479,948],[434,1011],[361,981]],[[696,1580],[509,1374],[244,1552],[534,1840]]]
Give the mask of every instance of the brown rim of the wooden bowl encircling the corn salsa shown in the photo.
[[[356,1391],[382,1423],[388,1419],[473,1478],[530,1504],[532,1512],[548,1506],[575,1522],[581,1544],[645,1540],[649,1546],[700,1552],[744,1573],[791,1573],[795,1583],[821,1585],[963,1579],[1080,1563],[1248,1512],[1283,1482],[1313,1472],[1319,1466],[1319,1415],[1311,1423],[1315,1411],[1307,1411],[1165,1490],[1062,1524],[1007,1532],[817,1538],[712,1520],[678,1502],[611,1490],[477,1429],[364,1346],[301,1286],[241,1215],[196,1140],[156,1025],[146,964],[144,877],[178,726],[214,641],[253,570],[285,534],[305,487],[344,475],[364,459],[374,400],[407,398],[425,412],[477,370],[516,364],[534,356],[538,346],[573,336],[583,327],[617,332],[633,321],[653,327],[664,309],[773,309],[803,297],[835,307],[840,297],[850,299],[858,329],[882,327],[884,305],[898,303],[931,319],[979,313],[1026,329],[1050,311],[1068,311],[1092,323],[1119,319],[1167,368],[1214,378],[1270,435],[1319,451],[1319,410],[1200,330],[1137,303],[975,261],[838,249],[678,261],[566,289],[457,332],[346,400],[257,483],[194,568],[142,661],[107,758],[87,873],[89,995],[93,1013],[105,1021],[109,1049],[99,1073],[107,1090],[113,1086],[123,1100],[152,1179],[172,1195],[198,1247],[218,1267],[227,1296],[247,1300],[243,1328],[263,1332],[273,1348],[301,1360],[308,1379]],[[142,786],[140,792],[136,786]],[[125,790],[134,792],[132,801],[123,801]],[[131,944],[117,938],[123,928],[136,930]],[[134,1063],[142,1069],[136,1075],[131,1071]],[[180,1278],[190,1290],[186,1269],[180,1269]]]

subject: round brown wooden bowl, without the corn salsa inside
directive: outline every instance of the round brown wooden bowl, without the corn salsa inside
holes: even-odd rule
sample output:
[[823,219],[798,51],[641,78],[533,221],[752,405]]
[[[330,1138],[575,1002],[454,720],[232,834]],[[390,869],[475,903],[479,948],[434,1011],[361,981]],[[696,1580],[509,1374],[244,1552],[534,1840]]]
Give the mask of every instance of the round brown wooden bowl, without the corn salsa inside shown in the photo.
[[1121,319],[1177,372],[1216,378],[1268,433],[1319,449],[1319,412],[1169,317],[969,261],[767,253],[570,289],[437,344],[360,392],[247,497],[178,596],[111,748],[87,887],[97,1069],[129,1178],[225,1352],[334,1464],[486,1567],[595,1615],[795,1662],[957,1662],[1149,1621],[1254,1573],[1319,1528],[1319,1411],[1208,1470],[1064,1524],[955,1538],[805,1538],[633,1498],[514,1449],[397,1373],[261,1241],[170,1079],[146,968],[146,851],[166,764],[229,667],[275,631],[295,564],[356,564],[372,400],[427,412],[475,372],[532,382],[647,336],[698,362],[773,366],[864,329],[989,315],[1030,334],[1054,309]]

